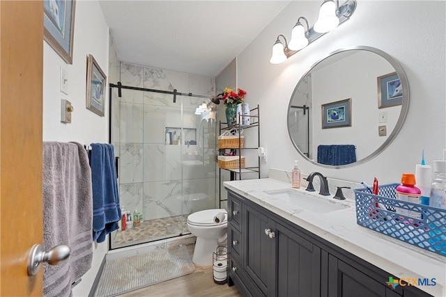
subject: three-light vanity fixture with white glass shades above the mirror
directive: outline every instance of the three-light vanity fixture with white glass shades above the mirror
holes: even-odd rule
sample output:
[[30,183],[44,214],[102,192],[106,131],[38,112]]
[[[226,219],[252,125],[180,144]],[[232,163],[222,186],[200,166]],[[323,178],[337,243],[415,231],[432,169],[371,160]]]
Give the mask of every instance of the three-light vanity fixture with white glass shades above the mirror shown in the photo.
[[[351,15],[353,15],[355,9],[355,0],[347,0],[341,6],[339,6],[339,0],[336,0],[336,3],[334,0],[325,0],[319,10],[318,20],[312,28],[309,28],[308,21],[305,17],[299,17],[298,22],[296,22],[291,31],[291,40],[289,44],[286,43],[284,35],[280,34],[277,36],[277,40],[272,46],[270,63],[283,63],[287,58],[293,56],[293,54],[300,51],[300,49],[305,48],[307,45],[314,42],[314,40],[325,35],[337,26],[344,24],[344,22],[350,19]],[[301,19],[305,20],[307,31],[305,31],[303,24],[300,22]],[[284,38],[285,46],[279,40],[280,36]]]

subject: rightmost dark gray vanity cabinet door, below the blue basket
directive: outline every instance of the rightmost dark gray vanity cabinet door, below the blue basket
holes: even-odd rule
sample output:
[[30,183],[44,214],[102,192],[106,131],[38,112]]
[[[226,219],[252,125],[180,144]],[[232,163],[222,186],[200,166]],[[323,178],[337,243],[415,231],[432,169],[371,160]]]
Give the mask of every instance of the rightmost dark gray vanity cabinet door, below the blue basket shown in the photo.
[[333,255],[328,257],[328,296],[381,297],[399,295],[385,284],[342,262]]

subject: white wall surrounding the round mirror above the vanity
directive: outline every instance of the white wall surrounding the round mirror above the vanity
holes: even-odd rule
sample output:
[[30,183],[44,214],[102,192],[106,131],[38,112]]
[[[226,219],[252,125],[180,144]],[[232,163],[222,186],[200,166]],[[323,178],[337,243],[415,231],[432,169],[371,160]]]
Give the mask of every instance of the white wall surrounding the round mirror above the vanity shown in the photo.
[[[316,22],[319,1],[293,1],[238,56],[238,87],[246,101],[261,106],[261,143],[268,149],[263,168],[291,170],[300,160],[302,172],[319,171],[328,177],[360,182],[378,177],[381,184],[399,182],[401,173],[414,172],[424,148],[426,162],[442,158],[445,125],[445,5],[444,1],[357,1],[351,19],[323,36],[288,61],[269,63],[277,35],[289,39],[300,16]],[[420,22],[414,22],[420,19]],[[367,45],[394,57],[406,72],[410,88],[408,117],[387,149],[368,163],[331,169],[302,159],[286,127],[289,99],[300,77],[330,52]]]

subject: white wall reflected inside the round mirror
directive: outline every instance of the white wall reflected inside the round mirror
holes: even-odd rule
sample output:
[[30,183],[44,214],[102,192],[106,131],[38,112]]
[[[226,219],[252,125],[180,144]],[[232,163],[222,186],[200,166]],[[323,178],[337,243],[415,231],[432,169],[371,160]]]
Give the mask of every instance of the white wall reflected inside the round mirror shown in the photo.
[[[367,69],[367,75],[364,74]],[[384,58],[360,51],[321,70],[312,72],[313,153],[318,145],[355,145],[357,160],[380,147],[387,137],[378,136],[378,125],[387,126],[387,136],[396,125],[401,105],[378,109],[376,78],[394,72]],[[351,99],[351,127],[322,129],[321,105]],[[378,123],[379,113],[387,113],[387,122]]]

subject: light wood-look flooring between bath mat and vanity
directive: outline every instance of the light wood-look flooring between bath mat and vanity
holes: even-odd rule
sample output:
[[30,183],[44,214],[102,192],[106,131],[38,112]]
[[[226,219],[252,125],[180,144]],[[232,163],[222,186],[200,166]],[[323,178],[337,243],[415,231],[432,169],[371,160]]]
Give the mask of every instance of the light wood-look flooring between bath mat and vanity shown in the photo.
[[[187,249],[192,253],[194,245],[188,245]],[[228,284],[216,284],[214,282],[212,266],[195,266],[195,271],[188,275],[174,278],[141,288],[120,297],[242,297],[236,286]]]

